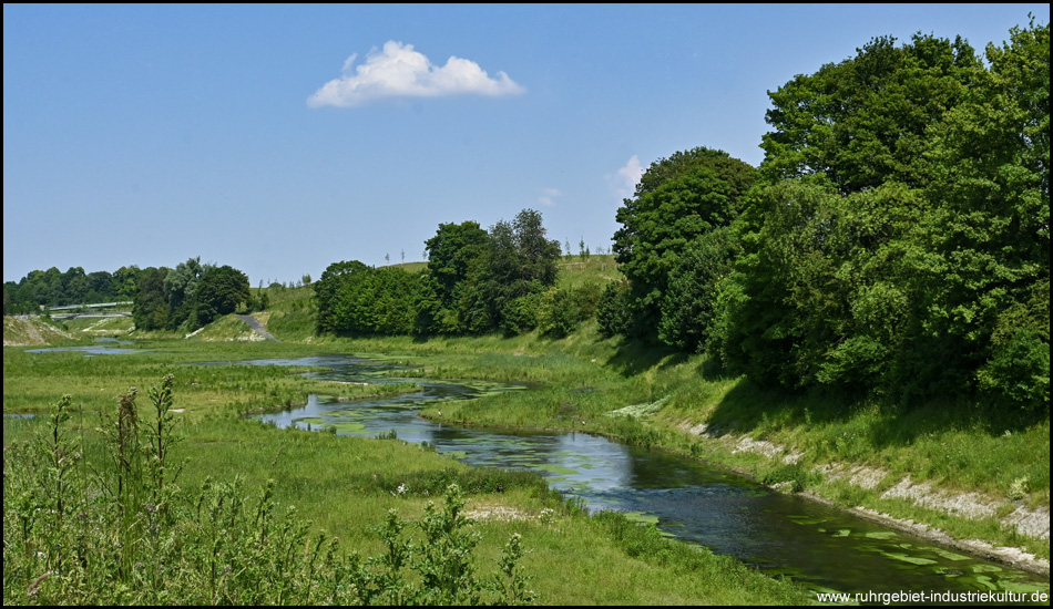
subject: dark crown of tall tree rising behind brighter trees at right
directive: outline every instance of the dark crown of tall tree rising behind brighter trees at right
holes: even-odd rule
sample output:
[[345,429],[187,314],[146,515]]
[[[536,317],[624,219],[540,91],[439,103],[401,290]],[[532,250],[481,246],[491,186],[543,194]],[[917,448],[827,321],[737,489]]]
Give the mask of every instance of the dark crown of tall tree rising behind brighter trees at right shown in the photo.
[[928,128],[958,105],[980,60],[961,38],[872,39],[855,58],[828,63],[768,92],[760,168],[773,179],[822,174],[844,194],[928,179]]

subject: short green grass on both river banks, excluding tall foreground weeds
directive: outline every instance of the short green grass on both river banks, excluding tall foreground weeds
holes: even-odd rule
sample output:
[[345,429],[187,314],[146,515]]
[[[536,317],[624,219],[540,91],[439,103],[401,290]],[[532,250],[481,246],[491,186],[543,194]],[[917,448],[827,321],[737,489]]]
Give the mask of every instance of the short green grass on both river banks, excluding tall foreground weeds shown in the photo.
[[[589,280],[589,266],[576,270],[572,280]],[[725,465],[844,508],[862,506],[931,525],[958,540],[1049,558],[1049,419],[1010,420],[975,403],[903,409],[769,393],[722,376],[705,357],[601,340],[590,324],[562,340],[317,338],[309,289],[270,292],[272,307],[257,319],[283,342],[245,340],[244,328],[226,320],[190,339],[152,337],[134,355],[43,358],[6,348],[4,412],[44,412],[70,393],[83,405],[78,426],[91,436],[98,413],[112,412],[117,394],[155,385],[171,372],[183,411],[185,441],[177,451],[187,460],[184,488],[209,475],[241,475],[249,488],[274,478],[279,504],[296,505],[314,527],[335,531],[341,547],[376,555],[382,545],[370,527],[388,508],[418,518],[446,484],[457,482],[471,489],[467,509],[483,535],[480,565],[493,565],[504,541],[519,533],[533,550],[521,564],[544,603],[797,603],[810,597],[624,518],[587,518],[533,476],[504,478],[401,442],[278,431],[237,416],[301,403],[309,392],[354,399],[377,385],[325,386],[292,374],[305,369],[197,362],[374,354],[410,364],[421,375],[529,382],[533,391],[448,403],[441,414],[423,414],[469,425],[605,434]],[[4,446],[40,424],[6,424]],[[399,493],[400,486],[410,492]],[[1041,568],[1018,556],[1023,562]]]

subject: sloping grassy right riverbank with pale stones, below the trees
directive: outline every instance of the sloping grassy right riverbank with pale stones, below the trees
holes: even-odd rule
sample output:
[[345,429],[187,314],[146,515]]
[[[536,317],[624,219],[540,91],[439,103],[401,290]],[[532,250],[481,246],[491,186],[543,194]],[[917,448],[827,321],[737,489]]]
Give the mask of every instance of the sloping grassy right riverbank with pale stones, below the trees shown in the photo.
[[[422,357],[429,373],[543,385],[426,410],[437,421],[575,430],[705,460],[787,493],[1016,568],[1049,574],[1049,421],[973,405],[890,410],[776,396],[684,358],[601,341],[397,339],[351,349]],[[384,347],[381,347],[381,344]],[[423,363],[429,362],[429,363]]]

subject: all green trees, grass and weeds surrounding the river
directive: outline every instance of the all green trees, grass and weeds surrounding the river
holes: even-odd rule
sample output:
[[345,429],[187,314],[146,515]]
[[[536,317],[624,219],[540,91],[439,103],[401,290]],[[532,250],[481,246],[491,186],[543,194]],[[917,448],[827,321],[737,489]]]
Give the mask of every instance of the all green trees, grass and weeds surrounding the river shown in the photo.
[[[760,167],[706,147],[652,164],[617,213],[613,258],[581,242],[561,260],[526,209],[489,230],[440,225],[423,268],[335,262],[310,287],[251,290],[241,271],[196,259],[109,285],[78,269],[6,283],[6,313],[93,289],[132,296],[140,337],[215,321],[132,362],[4,349],[6,413],[42,413],[55,388],[72,395],[47,423],[4,424],[6,603],[804,599],[653,528],[587,518],[533,476],[241,419],[320,389],[382,389],[200,363],[319,345],[538,386],[423,412],[442,422],[602,433],[1047,558],[1047,538],[1006,517],[1050,502],[1049,25],[1014,28],[984,59],[961,39],[879,38],[796,76],[769,94]],[[243,306],[266,307],[257,318],[285,342],[206,343],[235,333],[224,316]],[[156,378],[149,427],[133,391],[101,414]],[[904,481],[982,495],[995,514],[886,493]],[[442,494],[443,508],[428,506]],[[472,500],[531,516],[472,528]],[[316,524],[274,516],[280,503]],[[379,541],[360,526],[381,520]],[[514,541],[502,555],[478,531]],[[494,577],[477,577],[480,559],[498,561]],[[698,571],[708,579],[688,577]]]

